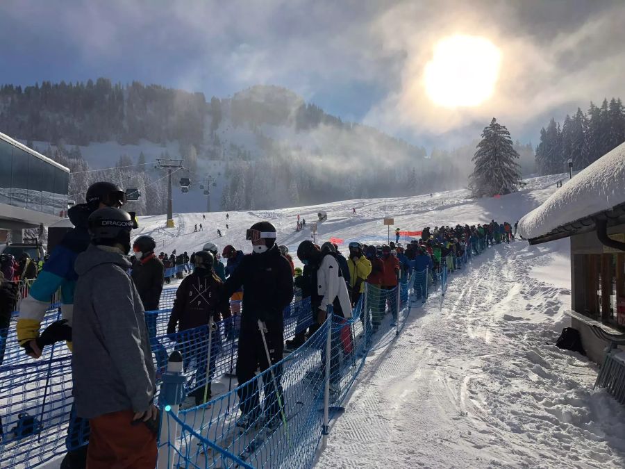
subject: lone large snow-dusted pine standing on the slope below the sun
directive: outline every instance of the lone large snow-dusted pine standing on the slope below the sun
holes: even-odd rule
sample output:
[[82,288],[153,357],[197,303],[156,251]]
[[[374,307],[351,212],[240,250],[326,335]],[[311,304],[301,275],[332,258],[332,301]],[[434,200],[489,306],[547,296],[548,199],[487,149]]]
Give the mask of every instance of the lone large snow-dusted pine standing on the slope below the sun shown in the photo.
[[475,170],[469,176],[469,186],[476,197],[509,194],[517,189],[521,177],[519,154],[512,147],[510,132],[506,126],[497,123],[494,117],[484,128],[482,140],[472,161]]

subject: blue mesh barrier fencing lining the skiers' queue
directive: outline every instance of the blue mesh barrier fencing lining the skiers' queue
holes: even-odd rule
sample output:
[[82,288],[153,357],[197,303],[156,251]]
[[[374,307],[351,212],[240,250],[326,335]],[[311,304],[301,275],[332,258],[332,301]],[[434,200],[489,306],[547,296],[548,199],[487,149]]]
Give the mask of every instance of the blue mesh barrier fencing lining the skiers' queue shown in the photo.
[[[486,238],[477,240],[471,247],[472,255],[480,254],[486,247]],[[437,270],[412,272],[410,277],[401,279],[399,288],[368,287],[351,319],[333,315],[303,346],[257,375],[252,380],[255,386],[249,381],[230,392],[219,393],[207,404],[181,411],[177,417],[166,412],[168,420],[177,420],[178,432],[175,438],[172,434],[168,438],[161,436],[161,452],[173,452],[180,467],[310,466],[327,430],[323,405],[326,395],[332,418],[349,395],[367,354],[389,345],[406,324],[410,307],[424,302],[439,285],[444,293],[449,275],[468,261],[466,252],[460,257],[448,256]],[[174,269],[182,270],[183,266]],[[178,350],[183,356],[183,388],[187,394],[203,388],[207,382],[209,331],[208,326],[204,326],[166,334],[175,293],[175,288],[165,288],[160,309],[148,312],[146,321],[151,332],[153,359],[160,368],[159,389],[167,355]],[[58,304],[51,304],[42,327],[58,318]],[[0,340],[6,337],[5,356],[0,364],[1,468],[36,467],[64,454],[68,427],[72,430],[69,447],[88,441],[86,427],[68,425],[73,420],[69,349],[57,343],[46,347],[42,359],[33,361],[17,344],[16,320],[17,314],[14,314],[9,329],[0,331]],[[310,299],[301,300],[296,293],[295,301],[284,311],[284,339],[314,322]],[[233,372],[239,327],[240,316],[235,315],[215,324],[210,332],[213,340],[209,380],[215,382]],[[331,338],[329,354],[328,335]],[[258,400],[249,397],[249,393],[241,394],[242,404],[240,393],[250,388],[258,389]],[[249,409],[245,406],[247,400],[253,400],[252,409],[256,409],[258,415],[251,427],[241,431],[235,424],[242,416],[242,406]],[[279,413],[281,423],[272,422],[268,428],[265,425],[267,409]]]

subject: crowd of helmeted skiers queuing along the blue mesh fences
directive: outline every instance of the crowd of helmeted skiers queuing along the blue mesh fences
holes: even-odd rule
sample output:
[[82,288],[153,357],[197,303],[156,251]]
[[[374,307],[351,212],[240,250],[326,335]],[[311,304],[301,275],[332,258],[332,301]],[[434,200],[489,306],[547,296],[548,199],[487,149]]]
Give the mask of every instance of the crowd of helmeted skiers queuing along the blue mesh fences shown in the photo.
[[[299,269],[294,268],[288,247],[278,246],[276,228],[269,222],[258,222],[247,230],[251,254],[232,245],[220,253],[213,242],[190,256],[175,250],[169,255],[156,254],[156,242],[150,236],[131,242],[136,221],[121,208],[126,202],[121,188],[95,183],[86,200],[69,210],[74,229],[42,266],[17,321],[17,338],[29,356],[39,358],[44,347],[58,341],[67,342],[72,349],[72,412],[76,419],[70,426],[88,425],[90,441],[87,447],[68,451],[64,468],[156,464],[158,410],[153,398],[156,375],[167,355],[155,340],[156,321],[150,319],[155,316],[145,311],[158,310],[163,284],[169,281],[167,269],[183,265],[179,272],[183,281],[176,290],[167,334],[174,340],[177,334],[188,334],[185,340],[191,346],[183,352],[185,370],[194,363],[195,382],[205,383],[193,388],[189,397],[194,404],[210,399],[215,357],[222,347],[222,337],[214,334],[215,324],[238,315],[237,329],[226,334],[226,340],[238,338],[236,375],[239,383],[247,383],[238,388],[237,425],[247,428],[260,422],[272,428],[285,421],[282,371],[274,368],[272,379],[263,384],[262,405],[257,380],[252,378],[257,370],[264,372],[281,361],[285,349],[301,346],[307,335],[324,324],[329,306],[339,318],[349,319],[366,291],[369,311],[361,320],[365,324],[369,321],[365,318],[370,318],[365,330],[374,333],[387,309],[397,318],[397,296],[385,295],[385,290],[396,288],[402,277],[427,269],[438,272],[447,256],[454,259],[465,252],[470,256],[482,239],[490,244],[512,238],[510,224],[492,221],[473,227],[426,228],[420,240],[405,247],[398,240],[381,246],[350,242],[346,256],[331,242],[319,246],[305,240],[297,249],[303,264]],[[129,261],[131,252],[134,256]],[[455,268],[451,263],[447,267]],[[14,278],[13,271],[7,273]],[[427,276],[424,278],[427,282]],[[40,331],[49,298],[58,288],[62,290],[63,319]],[[310,297],[313,325],[308,334],[299,331],[285,343],[283,311],[291,304],[295,288],[302,298]],[[0,298],[14,296],[0,282]],[[333,393],[338,392],[339,340],[333,338],[331,348]],[[209,363],[206,347],[201,346],[206,343],[211,344]],[[156,365],[152,352],[156,353]],[[325,363],[323,357],[319,374],[324,373]],[[71,445],[71,428],[67,441]]]

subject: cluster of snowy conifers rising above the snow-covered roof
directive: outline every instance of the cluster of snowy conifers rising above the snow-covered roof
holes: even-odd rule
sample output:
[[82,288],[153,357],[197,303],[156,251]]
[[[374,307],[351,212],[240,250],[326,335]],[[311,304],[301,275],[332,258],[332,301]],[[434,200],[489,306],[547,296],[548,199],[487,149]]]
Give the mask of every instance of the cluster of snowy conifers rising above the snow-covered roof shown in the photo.
[[620,98],[603,99],[601,107],[592,102],[587,113],[581,108],[567,115],[560,125],[553,118],[540,131],[536,166],[540,174],[567,171],[572,159],[574,170],[582,170],[625,141],[625,108]]

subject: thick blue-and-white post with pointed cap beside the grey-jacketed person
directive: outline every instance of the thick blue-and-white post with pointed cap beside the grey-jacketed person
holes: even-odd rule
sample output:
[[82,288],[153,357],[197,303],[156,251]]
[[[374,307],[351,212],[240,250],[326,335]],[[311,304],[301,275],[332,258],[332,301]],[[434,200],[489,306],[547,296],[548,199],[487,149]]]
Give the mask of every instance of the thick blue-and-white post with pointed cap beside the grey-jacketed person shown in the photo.
[[176,434],[178,423],[172,419],[169,422],[169,414],[178,415],[180,404],[184,398],[185,377],[182,374],[183,358],[180,352],[174,350],[169,355],[167,371],[163,373],[163,384],[160,386],[158,404],[160,407],[160,441],[158,451],[157,469],[169,469],[174,467],[174,455],[171,447],[176,446]]

